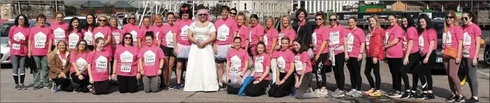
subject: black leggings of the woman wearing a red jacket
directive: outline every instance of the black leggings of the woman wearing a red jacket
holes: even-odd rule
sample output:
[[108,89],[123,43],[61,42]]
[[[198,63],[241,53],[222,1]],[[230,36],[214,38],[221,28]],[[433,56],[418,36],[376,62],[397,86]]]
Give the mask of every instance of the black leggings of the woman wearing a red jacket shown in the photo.
[[[366,78],[368,78],[370,89],[374,88],[376,90],[380,90],[381,75],[379,69],[380,69],[379,59],[377,63],[373,63],[372,57],[366,57],[366,67],[364,68],[364,75],[366,75]],[[376,84],[374,83],[373,76],[371,75],[371,71],[373,71],[374,78],[376,78]]]

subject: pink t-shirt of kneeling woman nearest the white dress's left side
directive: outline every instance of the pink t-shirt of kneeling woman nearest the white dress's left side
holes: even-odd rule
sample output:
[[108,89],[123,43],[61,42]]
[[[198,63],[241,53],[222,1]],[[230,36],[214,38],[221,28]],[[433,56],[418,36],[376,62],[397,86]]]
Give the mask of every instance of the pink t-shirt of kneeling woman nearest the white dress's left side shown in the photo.
[[158,74],[160,59],[165,59],[165,55],[160,47],[144,45],[138,52],[138,59],[142,59],[144,75],[154,76]]

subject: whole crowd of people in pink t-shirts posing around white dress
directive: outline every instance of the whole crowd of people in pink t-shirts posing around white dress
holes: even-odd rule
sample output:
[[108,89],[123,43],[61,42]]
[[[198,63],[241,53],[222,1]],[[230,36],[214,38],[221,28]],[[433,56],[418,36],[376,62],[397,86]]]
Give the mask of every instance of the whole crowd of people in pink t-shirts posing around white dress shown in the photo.
[[[419,18],[389,15],[390,26],[386,30],[380,27],[378,16],[370,16],[365,35],[362,28],[356,27],[357,18],[348,18],[345,28],[336,14],[326,20],[322,11],[314,15],[316,27],[311,31],[304,8],[296,13],[297,27],[292,26],[292,18],[281,16],[280,29],[275,28],[272,16],[260,25],[257,15],[249,18],[228,6],[221,7],[221,18],[215,23],[210,22],[206,9],[197,11],[196,20],[191,19],[192,12],[181,6],[179,16],[172,12],[156,14],[155,18],[144,16],[141,27],[136,23],[137,15],[127,13],[122,30],[117,28],[117,17],[107,19],[102,14],[88,14],[86,23],[80,23],[78,18],[64,23],[63,13],[58,12],[49,27],[44,25],[46,16],[41,14],[33,28],[28,28],[26,16],[19,15],[9,32],[15,90],[27,89],[23,85],[24,61],[33,58],[37,66],[33,72],[34,90],[51,88],[53,92],[105,95],[110,90],[110,80],[115,80],[121,93],[138,92],[138,87],[143,86],[144,92],[225,89],[228,94],[250,97],[292,95],[307,99],[328,97],[326,87],[334,86],[337,89],[330,92],[332,97],[378,97],[383,95],[379,63],[387,61],[393,90],[386,91],[385,96],[435,98],[430,71],[436,61],[437,33],[425,14]],[[466,63],[464,69],[472,92],[469,100],[477,102],[476,63],[481,29],[472,12],[462,13],[464,28],[458,19],[454,11],[449,11],[444,21],[443,61],[452,92],[446,101],[464,102],[457,72],[459,64]],[[361,87],[363,58],[369,90]],[[351,76],[350,90],[345,86],[344,63]],[[174,66],[176,85],[170,85]],[[408,70],[412,71],[412,87]],[[326,85],[326,73],[332,71],[336,85]],[[311,89],[312,80],[316,80],[316,90]],[[419,80],[422,92],[417,92]]]

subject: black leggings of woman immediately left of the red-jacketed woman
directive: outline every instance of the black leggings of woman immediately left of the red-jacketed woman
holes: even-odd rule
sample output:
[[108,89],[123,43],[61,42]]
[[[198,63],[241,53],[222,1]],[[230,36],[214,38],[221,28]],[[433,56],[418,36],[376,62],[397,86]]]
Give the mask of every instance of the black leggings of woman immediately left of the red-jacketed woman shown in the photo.
[[351,75],[351,89],[356,89],[358,91],[361,90],[361,83],[363,83],[361,79],[361,63],[358,61],[358,58],[349,57],[347,61],[348,73]]

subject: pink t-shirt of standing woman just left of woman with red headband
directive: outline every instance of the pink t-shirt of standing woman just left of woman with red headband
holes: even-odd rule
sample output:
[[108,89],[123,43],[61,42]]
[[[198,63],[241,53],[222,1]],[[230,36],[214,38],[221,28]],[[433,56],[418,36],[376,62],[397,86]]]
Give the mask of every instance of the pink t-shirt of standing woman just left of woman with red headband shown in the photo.
[[174,48],[174,33],[177,32],[177,28],[174,25],[164,25],[161,30],[161,35],[159,38],[161,40],[161,45],[164,47]]

